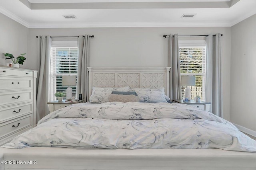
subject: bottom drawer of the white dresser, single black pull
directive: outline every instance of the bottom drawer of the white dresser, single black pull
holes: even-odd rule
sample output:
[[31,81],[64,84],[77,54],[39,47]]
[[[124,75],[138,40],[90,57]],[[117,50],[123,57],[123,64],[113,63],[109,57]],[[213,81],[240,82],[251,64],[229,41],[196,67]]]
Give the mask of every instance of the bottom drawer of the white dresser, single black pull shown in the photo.
[[8,121],[6,123],[1,123],[0,126],[0,138],[9,135],[11,133],[15,133],[20,129],[32,125],[32,114],[26,117],[20,117],[18,119],[14,119],[12,121]]

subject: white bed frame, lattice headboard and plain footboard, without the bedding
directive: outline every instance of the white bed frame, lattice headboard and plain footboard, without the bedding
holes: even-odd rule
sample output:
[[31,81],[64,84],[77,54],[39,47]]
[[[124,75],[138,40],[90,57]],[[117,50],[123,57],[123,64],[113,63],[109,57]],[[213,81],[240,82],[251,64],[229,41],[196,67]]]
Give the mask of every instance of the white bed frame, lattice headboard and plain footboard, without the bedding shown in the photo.
[[[92,68],[89,87],[165,88],[170,67]],[[0,170],[255,170],[256,153],[222,149],[83,149],[0,147]],[[9,162],[7,162],[9,160]],[[14,160],[15,164],[10,164]],[[36,161],[35,162],[33,161]],[[17,162],[18,161],[18,162]],[[24,164],[24,162],[26,164]],[[23,164],[21,164],[23,162]],[[18,164],[17,164],[18,163]],[[30,164],[28,164],[30,163]],[[33,163],[33,164],[31,164]]]

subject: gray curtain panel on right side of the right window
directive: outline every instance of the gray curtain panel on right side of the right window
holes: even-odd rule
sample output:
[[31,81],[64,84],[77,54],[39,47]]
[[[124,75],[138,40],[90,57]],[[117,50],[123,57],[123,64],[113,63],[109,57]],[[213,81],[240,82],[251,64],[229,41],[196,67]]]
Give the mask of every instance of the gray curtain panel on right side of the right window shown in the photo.
[[206,89],[205,100],[212,102],[210,112],[223,117],[220,33],[206,37]]

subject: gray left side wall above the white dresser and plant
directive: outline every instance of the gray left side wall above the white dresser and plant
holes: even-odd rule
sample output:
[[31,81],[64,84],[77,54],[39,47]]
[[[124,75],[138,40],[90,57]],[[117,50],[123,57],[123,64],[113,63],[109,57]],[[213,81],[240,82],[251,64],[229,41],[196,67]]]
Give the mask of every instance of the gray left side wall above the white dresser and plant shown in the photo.
[[[3,53],[11,53],[14,57],[22,53],[28,53],[28,28],[0,13],[0,65],[12,63],[5,60]],[[27,60],[31,57],[24,55]],[[29,62],[20,65],[22,68],[30,68]]]

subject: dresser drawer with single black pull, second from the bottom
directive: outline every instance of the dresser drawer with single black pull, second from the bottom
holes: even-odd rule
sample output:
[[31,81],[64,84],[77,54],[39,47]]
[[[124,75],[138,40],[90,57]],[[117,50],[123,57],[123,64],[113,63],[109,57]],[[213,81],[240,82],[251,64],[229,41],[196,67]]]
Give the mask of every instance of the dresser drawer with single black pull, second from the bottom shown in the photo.
[[0,109],[0,121],[4,121],[6,119],[14,118],[20,115],[32,113],[32,103],[20,104],[10,107],[3,107]]

